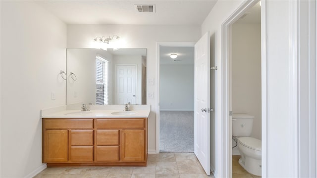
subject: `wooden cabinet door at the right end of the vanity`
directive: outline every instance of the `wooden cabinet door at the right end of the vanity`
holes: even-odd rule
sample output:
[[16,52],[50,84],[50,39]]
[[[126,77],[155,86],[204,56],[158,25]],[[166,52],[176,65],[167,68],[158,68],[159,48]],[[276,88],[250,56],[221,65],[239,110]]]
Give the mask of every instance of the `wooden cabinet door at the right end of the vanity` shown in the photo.
[[121,130],[121,161],[144,161],[144,133],[144,130]]

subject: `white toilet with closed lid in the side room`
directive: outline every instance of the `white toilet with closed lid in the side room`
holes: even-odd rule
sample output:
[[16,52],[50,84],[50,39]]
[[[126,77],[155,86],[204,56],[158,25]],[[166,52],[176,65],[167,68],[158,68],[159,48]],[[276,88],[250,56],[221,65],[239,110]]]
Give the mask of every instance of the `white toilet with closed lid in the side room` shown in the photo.
[[262,141],[249,137],[252,132],[253,118],[248,114],[232,115],[232,135],[238,138],[239,164],[249,173],[261,176]]

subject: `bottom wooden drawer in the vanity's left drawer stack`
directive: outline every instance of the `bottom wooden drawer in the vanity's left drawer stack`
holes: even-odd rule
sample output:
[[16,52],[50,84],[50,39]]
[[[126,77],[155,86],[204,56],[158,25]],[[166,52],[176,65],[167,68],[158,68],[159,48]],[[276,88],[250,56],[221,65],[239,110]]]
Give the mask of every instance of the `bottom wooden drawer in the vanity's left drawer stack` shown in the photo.
[[71,162],[92,162],[94,161],[94,146],[72,146]]

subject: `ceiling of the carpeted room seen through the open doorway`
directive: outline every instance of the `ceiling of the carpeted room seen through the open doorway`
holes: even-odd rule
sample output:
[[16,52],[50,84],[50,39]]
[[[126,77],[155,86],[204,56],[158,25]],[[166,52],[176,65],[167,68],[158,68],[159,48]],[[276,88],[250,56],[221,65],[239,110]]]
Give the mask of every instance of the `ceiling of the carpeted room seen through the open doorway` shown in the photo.
[[[170,54],[176,53],[177,58],[170,58]],[[159,47],[160,65],[194,65],[194,47],[176,47],[160,46]]]

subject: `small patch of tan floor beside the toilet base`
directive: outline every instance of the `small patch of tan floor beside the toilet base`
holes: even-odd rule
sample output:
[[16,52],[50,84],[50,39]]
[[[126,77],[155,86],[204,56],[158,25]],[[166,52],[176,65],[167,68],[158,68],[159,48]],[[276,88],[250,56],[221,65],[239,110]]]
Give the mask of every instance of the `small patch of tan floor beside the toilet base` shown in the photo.
[[240,155],[232,156],[232,178],[261,178],[261,176],[256,176],[248,173],[239,164]]

